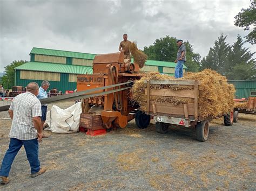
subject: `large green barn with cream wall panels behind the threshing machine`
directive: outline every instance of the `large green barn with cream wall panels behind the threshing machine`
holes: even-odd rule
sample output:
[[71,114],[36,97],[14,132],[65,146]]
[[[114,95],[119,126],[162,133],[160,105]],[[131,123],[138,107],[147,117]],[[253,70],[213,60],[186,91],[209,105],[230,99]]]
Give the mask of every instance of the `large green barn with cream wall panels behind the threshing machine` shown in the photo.
[[[15,86],[25,87],[29,82],[50,82],[50,89],[65,93],[75,90],[78,74],[92,74],[92,62],[96,54],[60,51],[56,49],[32,48],[30,62],[15,68]],[[176,63],[147,60],[144,71],[174,75]],[[184,66],[184,72],[187,69]]]

